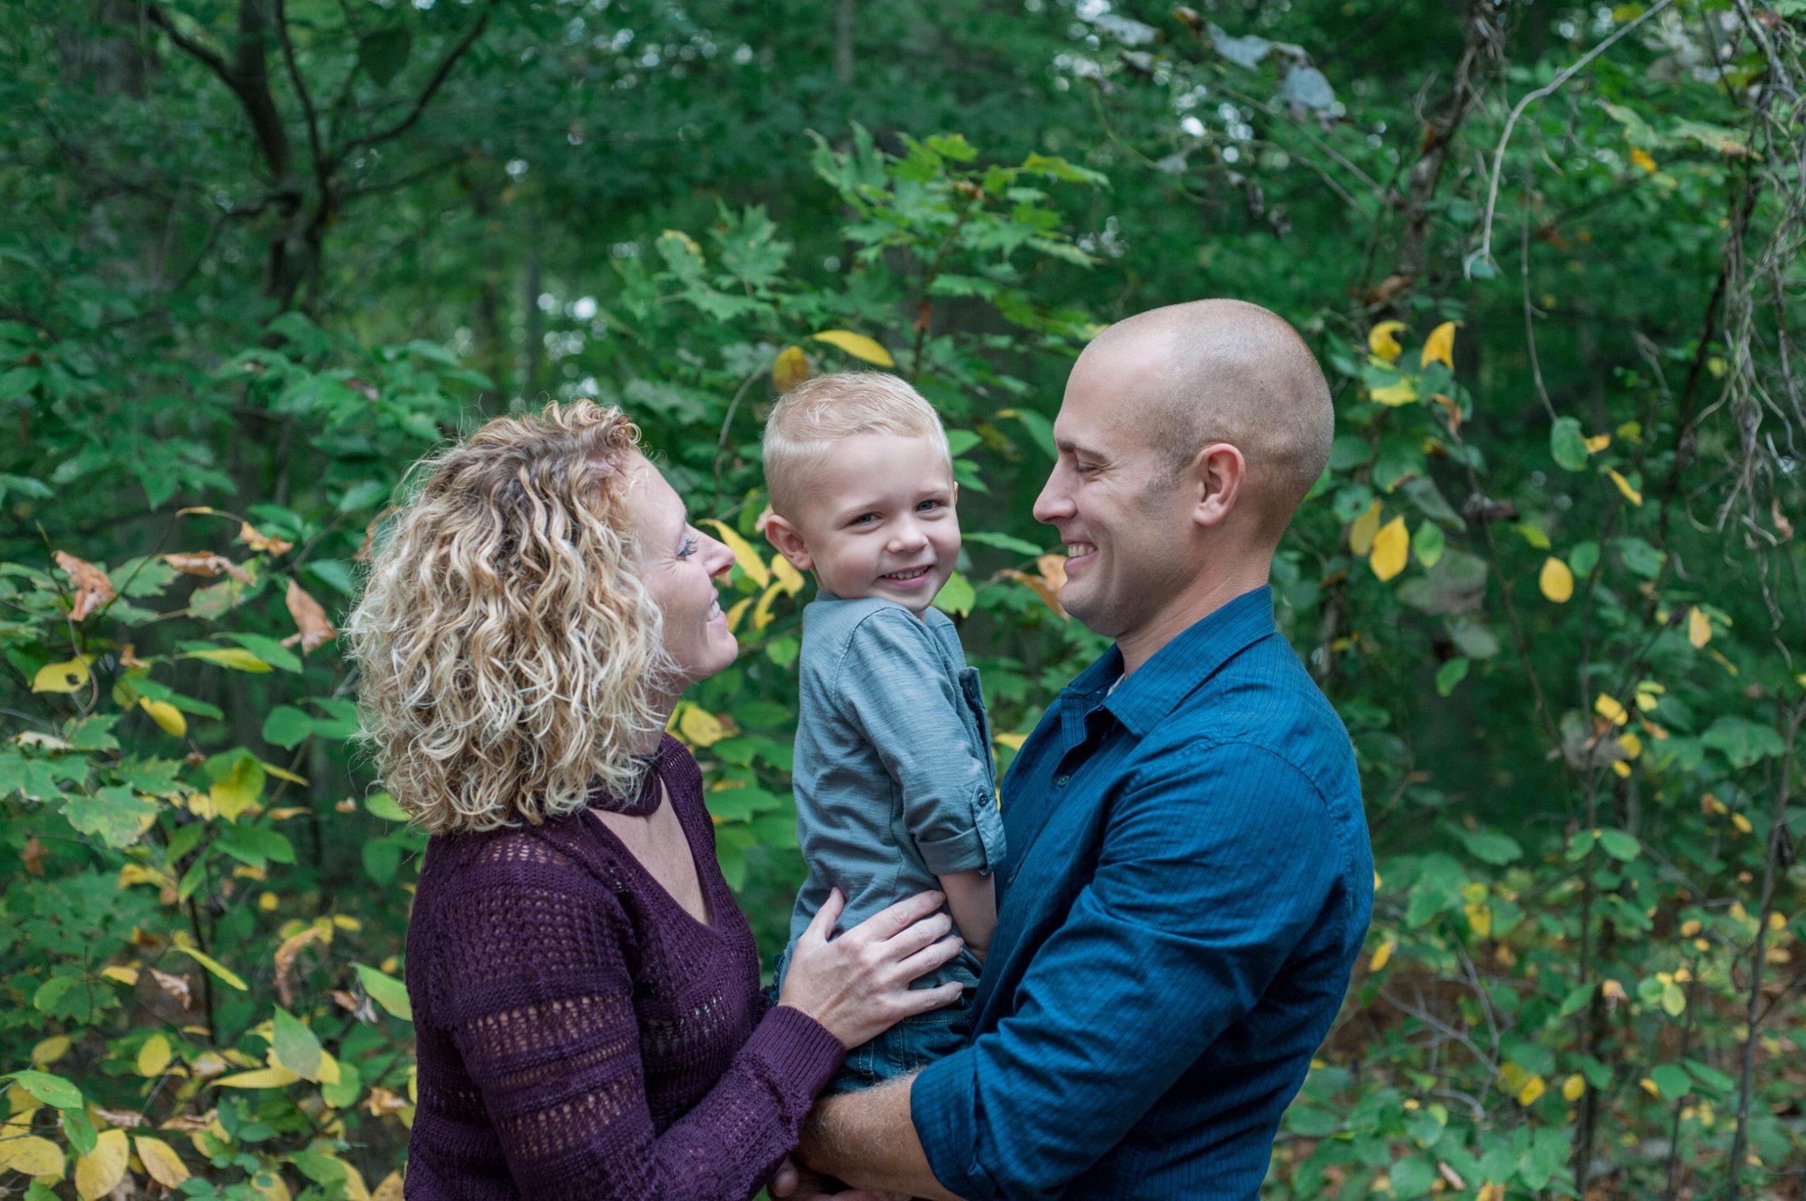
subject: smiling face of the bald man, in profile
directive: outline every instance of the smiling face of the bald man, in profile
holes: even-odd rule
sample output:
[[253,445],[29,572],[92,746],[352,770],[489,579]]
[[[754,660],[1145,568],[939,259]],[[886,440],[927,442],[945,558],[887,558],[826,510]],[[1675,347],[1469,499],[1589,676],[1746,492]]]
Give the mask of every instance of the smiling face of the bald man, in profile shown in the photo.
[[[1129,403],[1122,356],[1073,367],[1053,439],[1060,457],[1035,498],[1035,520],[1060,531],[1060,605],[1107,638],[1143,628],[1197,574],[1190,491]],[[1102,370],[1100,370],[1102,368]],[[1145,414],[1140,414],[1145,417]]]

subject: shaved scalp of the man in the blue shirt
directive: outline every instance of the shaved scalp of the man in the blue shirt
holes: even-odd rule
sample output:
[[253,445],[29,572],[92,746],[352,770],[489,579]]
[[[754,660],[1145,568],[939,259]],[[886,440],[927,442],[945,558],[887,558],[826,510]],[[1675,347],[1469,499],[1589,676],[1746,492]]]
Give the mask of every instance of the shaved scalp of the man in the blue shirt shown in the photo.
[[1324,372],[1299,332],[1261,305],[1194,300],[1140,312],[1085,347],[1075,376],[1087,368],[1123,379],[1122,405],[1172,480],[1210,442],[1235,446],[1273,540],[1329,462]]

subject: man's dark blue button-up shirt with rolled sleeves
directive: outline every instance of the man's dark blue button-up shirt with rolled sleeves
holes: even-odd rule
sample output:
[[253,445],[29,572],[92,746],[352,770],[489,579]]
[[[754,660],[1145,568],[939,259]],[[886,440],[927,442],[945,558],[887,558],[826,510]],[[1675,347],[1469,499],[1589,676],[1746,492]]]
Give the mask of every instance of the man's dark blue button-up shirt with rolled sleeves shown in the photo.
[[973,1040],[916,1078],[934,1174],[988,1197],[1255,1197],[1373,910],[1354,755],[1244,592],[1093,663],[1004,780]]

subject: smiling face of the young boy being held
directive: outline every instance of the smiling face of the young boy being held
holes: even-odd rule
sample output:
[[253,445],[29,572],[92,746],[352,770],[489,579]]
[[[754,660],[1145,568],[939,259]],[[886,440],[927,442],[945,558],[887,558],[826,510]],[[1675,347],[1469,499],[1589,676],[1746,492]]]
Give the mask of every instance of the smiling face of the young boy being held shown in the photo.
[[834,442],[796,520],[773,517],[766,536],[834,596],[883,596],[919,616],[959,558],[957,491],[936,439],[861,433]]

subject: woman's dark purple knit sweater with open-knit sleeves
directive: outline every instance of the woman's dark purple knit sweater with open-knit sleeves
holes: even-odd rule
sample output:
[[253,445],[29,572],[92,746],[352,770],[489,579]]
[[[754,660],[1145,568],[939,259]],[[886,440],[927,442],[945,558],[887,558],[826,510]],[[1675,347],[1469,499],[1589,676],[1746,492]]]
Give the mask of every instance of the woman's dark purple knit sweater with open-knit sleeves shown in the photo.
[[766,1011],[703,775],[661,766],[713,928],[591,813],[433,838],[408,921],[415,1201],[744,1201],[796,1145],[840,1042]]

